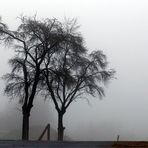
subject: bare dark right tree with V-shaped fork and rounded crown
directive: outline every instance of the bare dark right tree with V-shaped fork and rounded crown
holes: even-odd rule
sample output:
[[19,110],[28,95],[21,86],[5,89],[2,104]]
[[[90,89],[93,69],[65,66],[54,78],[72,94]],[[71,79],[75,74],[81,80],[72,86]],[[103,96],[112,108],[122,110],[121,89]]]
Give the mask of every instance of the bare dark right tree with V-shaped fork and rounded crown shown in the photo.
[[[108,70],[102,51],[88,54],[82,36],[77,33],[75,21],[67,23],[68,38],[59,44],[59,52],[44,60],[42,88],[51,96],[58,113],[58,140],[63,140],[63,116],[67,108],[82,95],[104,96],[104,84],[114,75]],[[49,61],[50,60],[50,61]]]

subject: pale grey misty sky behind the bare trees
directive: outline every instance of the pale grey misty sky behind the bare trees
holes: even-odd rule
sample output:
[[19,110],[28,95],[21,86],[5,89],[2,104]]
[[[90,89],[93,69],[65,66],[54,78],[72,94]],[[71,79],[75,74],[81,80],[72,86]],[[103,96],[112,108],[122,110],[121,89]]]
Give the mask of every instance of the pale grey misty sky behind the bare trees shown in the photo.
[[[21,14],[38,18],[78,18],[88,49],[103,50],[115,80],[106,97],[74,102],[68,109],[65,133],[73,140],[148,140],[148,1],[147,0],[0,0],[0,16],[12,29]],[[0,49],[0,76],[10,70],[11,49]],[[21,128],[16,101],[3,95],[0,80],[0,130]],[[51,102],[35,100],[31,125],[56,129]],[[19,120],[16,122],[16,119]],[[6,124],[7,123],[7,124]]]

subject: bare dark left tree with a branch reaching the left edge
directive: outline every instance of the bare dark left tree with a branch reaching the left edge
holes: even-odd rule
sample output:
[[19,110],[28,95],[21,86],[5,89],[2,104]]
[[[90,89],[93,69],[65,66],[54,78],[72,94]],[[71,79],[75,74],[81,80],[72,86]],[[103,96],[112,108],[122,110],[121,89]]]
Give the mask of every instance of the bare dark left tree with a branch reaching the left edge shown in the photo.
[[11,73],[3,78],[7,81],[5,93],[19,97],[22,103],[22,139],[29,139],[29,116],[40,81],[41,67],[46,54],[52,56],[58,44],[65,39],[62,25],[56,19],[39,21],[36,17],[21,17],[15,31],[0,23],[0,40],[10,45],[15,56],[10,59]]

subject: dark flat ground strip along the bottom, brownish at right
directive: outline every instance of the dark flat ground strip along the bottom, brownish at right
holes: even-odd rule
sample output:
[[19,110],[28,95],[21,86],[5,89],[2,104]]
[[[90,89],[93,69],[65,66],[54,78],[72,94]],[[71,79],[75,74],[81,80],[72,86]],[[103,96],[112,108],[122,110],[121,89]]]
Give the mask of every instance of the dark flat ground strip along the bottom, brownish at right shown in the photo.
[[0,148],[148,148],[148,142],[0,140]]

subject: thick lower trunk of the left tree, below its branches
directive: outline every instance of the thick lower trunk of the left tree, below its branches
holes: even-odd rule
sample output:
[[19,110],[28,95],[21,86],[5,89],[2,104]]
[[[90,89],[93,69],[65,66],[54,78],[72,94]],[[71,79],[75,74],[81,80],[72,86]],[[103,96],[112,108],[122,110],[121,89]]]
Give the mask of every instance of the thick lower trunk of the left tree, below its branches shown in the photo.
[[23,114],[22,140],[29,140],[29,114]]

